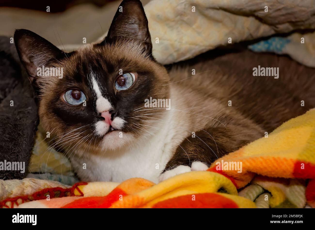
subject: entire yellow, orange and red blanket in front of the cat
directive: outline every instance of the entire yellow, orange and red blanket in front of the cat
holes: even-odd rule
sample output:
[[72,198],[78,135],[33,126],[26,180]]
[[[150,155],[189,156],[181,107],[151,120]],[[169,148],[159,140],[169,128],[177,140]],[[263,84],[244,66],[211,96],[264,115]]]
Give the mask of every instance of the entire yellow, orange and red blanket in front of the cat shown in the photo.
[[[12,185],[14,181],[23,185]],[[33,189],[31,183],[38,181],[46,182],[46,188]],[[142,178],[120,184],[80,182],[72,187],[47,183],[29,178],[1,181],[0,206],[302,208],[307,203],[315,207],[315,109],[218,159],[207,171],[183,173],[158,184]]]

